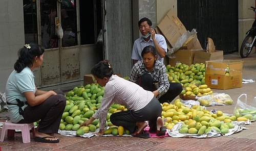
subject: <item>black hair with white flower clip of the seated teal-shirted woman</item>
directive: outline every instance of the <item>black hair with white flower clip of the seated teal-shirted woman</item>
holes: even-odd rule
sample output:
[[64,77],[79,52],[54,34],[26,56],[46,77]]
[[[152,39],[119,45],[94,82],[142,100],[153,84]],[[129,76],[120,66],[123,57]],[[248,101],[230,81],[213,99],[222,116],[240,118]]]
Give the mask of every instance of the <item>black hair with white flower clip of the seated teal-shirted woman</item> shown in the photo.
[[40,57],[45,50],[35,43],[25,44],[18,51],[18,60],[14,64],[14,69],[19,73],[25,67],[31,67],[34,57]]

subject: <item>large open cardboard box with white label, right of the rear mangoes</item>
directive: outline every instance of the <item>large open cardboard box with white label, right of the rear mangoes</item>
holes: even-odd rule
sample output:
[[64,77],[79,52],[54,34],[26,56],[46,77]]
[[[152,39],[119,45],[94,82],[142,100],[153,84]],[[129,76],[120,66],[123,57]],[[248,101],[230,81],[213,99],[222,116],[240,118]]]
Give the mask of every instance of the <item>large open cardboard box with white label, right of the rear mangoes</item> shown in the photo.
[[[225,75],[229,67],[229,75]],[[232,89],[242,87],[241,60],[206,61],[205,84],[213,89]]]

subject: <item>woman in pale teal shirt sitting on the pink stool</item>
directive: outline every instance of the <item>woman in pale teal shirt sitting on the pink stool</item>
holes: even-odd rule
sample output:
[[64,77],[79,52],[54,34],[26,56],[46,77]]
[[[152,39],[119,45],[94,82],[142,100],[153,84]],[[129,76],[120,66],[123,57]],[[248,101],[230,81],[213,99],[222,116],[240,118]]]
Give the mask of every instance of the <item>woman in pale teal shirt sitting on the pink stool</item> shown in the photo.
[[32,123],[40,120],[35,141],[57,143],[58,132],[66,106],[63,93],[37,90],[32,70],[42,64],[44,49],[37,44],[26,44],[18,51],[18,60],[6,83],[8,115],[14,123]]

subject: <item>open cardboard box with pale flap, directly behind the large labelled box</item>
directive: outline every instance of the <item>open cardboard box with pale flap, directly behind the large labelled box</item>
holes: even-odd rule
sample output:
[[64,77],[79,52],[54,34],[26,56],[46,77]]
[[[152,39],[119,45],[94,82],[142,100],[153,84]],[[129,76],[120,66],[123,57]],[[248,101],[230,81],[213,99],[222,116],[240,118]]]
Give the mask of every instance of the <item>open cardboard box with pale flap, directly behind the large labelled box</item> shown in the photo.
[[205,63],[210,60],[223,60],[223,51],[216,51],[213,53],[207,53],[205,51],[197,51],[194,56],[195,63]]

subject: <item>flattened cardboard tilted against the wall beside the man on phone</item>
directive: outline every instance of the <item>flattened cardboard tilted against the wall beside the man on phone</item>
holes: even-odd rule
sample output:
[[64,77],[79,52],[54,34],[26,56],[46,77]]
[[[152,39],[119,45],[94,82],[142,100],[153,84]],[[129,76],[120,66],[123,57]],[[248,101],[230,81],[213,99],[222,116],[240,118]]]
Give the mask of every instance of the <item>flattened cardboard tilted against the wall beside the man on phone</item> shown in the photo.
[[172,10],[164,16],[157,27],[172,46],[183,33],[187,32],[183,23]]

